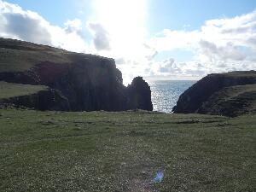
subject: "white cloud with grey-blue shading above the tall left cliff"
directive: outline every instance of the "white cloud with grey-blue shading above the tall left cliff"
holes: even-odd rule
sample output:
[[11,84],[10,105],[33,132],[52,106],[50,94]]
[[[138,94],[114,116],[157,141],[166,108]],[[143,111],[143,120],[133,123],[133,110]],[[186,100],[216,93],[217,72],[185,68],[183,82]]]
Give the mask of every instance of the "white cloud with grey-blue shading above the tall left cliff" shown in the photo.
[[36,12],[19,5],[0,1],[0,36],[17,38],[37,44],[84,52],[87,47],[80,35],[81,22],[68,20],[65,28],[50,25]]

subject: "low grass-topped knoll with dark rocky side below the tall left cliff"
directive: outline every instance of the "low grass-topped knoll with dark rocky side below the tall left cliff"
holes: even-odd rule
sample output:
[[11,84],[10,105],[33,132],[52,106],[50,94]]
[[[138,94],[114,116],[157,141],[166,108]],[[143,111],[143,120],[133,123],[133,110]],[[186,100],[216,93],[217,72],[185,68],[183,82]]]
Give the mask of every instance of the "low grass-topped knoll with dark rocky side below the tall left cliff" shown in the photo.
[[0,81],[0,108],[69,110],[65,96],[43,85],[14,84]]

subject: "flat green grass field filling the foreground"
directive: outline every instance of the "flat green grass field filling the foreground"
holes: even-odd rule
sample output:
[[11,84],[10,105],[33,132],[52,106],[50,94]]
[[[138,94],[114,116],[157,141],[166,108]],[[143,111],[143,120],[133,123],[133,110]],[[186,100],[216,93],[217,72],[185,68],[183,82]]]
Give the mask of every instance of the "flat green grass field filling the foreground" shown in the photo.
[[0,191],[253,192],[255,126],[255,115],[0,110]]

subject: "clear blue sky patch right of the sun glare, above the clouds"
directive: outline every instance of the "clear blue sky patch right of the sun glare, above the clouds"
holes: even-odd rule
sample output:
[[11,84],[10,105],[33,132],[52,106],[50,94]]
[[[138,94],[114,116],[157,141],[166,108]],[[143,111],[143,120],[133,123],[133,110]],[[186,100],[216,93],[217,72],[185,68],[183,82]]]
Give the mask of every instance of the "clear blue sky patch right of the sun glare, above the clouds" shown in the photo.
[[158,32],[163,28],[197,29],[205,20],[223,16],[233,17],[253,11],[255,0],[151,0],[149,28]]

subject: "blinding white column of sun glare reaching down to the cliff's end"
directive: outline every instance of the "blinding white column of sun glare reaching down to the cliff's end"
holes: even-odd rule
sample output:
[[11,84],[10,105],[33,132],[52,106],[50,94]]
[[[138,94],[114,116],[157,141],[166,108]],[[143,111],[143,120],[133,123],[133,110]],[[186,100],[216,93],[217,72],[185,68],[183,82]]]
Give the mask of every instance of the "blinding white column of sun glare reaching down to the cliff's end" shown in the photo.
[[122,58],[127,65],[118,65],[124,83],[140,75],[147,65],[145,48],[147,39],[148,0],[96,0],[93,3],[94,20],[109,33],[110,50],[100,54],[115,59]]

